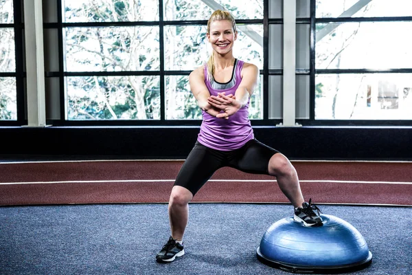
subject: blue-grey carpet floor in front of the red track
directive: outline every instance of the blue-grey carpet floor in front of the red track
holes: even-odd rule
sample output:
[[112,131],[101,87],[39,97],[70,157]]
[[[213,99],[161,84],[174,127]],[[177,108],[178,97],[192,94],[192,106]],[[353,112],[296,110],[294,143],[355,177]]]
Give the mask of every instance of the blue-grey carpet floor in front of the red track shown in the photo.
[[[412,274],[412,208],[319,206],[354,225],[374,258],[356,274]],[[192,203],[186,254],[159,264],[167,204],[0,207],[0,274],[290,274],[255,252],[284,204]]]

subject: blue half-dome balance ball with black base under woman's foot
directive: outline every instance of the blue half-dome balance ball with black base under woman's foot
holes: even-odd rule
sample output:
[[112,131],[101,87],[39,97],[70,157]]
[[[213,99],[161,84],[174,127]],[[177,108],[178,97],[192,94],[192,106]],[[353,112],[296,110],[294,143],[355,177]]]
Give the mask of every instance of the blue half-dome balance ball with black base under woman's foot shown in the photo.
[[343,273],[362,270],[372,254],[361,233],[350,223],[321,214],[323,226],[305,227],[293,217],[281,219],[264,233],[259,261],[294,273]]

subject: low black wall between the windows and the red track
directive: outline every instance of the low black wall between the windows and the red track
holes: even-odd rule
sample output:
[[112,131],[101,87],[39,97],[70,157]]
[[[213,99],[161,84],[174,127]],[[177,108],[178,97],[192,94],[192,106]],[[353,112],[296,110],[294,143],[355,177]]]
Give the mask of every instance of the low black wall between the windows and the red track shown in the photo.
[[[412,127],[266,127],[255,137],[290,159],[412,160]],[[0,158],[184,159],[196,142],[187,127],[3,127]]]

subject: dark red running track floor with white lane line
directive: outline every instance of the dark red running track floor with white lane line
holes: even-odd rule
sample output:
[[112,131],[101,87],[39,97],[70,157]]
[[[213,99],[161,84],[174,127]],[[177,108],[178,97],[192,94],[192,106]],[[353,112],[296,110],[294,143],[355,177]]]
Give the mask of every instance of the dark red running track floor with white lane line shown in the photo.
[[[164,203],[182,161],[0,164],[0,205]],[[410,162],[293,162],[314,203],[412,206]],[[216,181],[218,180],[218,181]],[[196,202],[288,203],[274,177],[221,168]],[[339,182],[336,182],[339,181]]]

